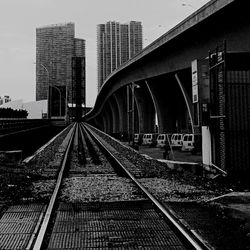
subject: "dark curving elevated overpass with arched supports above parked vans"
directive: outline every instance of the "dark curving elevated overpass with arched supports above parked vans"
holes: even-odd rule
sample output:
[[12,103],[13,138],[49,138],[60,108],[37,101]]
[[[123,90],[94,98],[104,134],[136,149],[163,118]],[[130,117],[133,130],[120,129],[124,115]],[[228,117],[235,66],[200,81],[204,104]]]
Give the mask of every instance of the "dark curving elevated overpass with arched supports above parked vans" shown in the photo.
[[[110,134],[202,133],[203,104],[211,102],[208,58],[210,55],[211,59],[213,54],[209,52],[221,44],[226,46],[216,52],[218,57],[225,51],[250,51],[248,12],[247,1],[208,2],[114,71],[104,82],[94,108],[84,119]],[[225,66],[225,60],[223,63]],[[223,70],[225,73],[225,67]],[[244,67],[244,71],[249,71],[249,67]],[[250,83],[249,78],[246,81]],[[193,87],[195,84],[199,90]],[[248,102],[249,98],[246,99]],[[208,145],[203,145],[204,161],[207,165],[227,169],[221,159],[216,160],[220,158],[215,153],[219,146],[211,139],[218,130],[211,132],[209,124],[203,125],[206,125],[203,144]],[[221,157],[225,158],[222,151]]]

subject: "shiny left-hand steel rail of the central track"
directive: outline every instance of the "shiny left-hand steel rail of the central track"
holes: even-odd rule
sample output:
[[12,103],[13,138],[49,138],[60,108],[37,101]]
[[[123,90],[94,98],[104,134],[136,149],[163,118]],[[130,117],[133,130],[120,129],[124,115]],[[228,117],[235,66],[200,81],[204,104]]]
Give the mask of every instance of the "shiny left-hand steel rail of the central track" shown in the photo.
[[76,130],[76,127],[77,127],[77,125],[74,124],[73,127],[71,128],[70,132],[69,132],[69,133],[71,133],[71,135],[70,135],[70,139],[69,139],[69,143],[67,145],[66,151],[65,151],[64,156],[63,156],[63,162],[62,162],[61,169],[60,169],[60,172],[59,172],[58,177],[57,177],[56,186],[55,186],[55,189],[54,189],[53,194],[51,196],[51,199],[50,199],[48,208],[46,210],[46,213],[44,215],[44,218],[43,218],[41,227],[39,229],[38,235],[36,237],[33,250],[40,250],[41,247],[42,247],[44,237],[45,237],[45,233],[47,231],[48,224],[49,224],[50,219],[51,219],[52,211],[54,209],[54,205],[55,205],[55,202],[56,202],[56,199],[57,199],[57,196],[58,196],[58,193],[59,193],[59,189],[60,189],[60,186],[61,186],[61,183],[62,183],[62,178],[63,178],[63,174],[64,174],[64,171],[65,171],[66,162],[67,162],[67,159],[68,159],[68,154],[69,154],[72,142],[73,142],[73,137],[74,137],[74,134],[75,134],[74,132]]

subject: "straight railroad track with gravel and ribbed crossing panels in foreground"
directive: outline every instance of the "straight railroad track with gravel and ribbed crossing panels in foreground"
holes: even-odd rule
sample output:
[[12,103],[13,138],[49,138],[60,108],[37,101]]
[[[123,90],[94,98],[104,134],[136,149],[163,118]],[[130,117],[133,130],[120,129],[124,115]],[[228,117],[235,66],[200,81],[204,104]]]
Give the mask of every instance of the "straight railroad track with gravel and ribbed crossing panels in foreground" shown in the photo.
[[89,127],[75,124],[63,148],[49,202],[9,207],[0,249],[208,249]]

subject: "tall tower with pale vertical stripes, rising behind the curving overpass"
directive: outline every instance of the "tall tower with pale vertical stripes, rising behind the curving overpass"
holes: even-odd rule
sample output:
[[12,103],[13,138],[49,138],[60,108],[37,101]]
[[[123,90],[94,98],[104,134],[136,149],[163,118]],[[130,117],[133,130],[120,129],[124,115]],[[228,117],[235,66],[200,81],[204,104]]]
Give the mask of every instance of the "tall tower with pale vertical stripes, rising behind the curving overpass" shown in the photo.
[[97,26],[98,91],[108,75],[142,50],[142,24],[110,21]]

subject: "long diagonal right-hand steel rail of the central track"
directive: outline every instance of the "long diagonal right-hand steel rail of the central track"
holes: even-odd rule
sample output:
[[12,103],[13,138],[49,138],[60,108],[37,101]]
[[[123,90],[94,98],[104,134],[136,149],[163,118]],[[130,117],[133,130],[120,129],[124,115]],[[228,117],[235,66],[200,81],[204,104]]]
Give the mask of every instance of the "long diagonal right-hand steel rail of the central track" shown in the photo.
[[211,249],[205,242],[193,231],[188,230],[181,222],[170,212],[160,201],[158,201],[146,188],[144,188],[136,178],[123,166],[123,164],[103,145],[103,143],[95,136],[95,134],[86,125],[82,126],[93,136],[96,142],[103,148],[103,150],[112,158],[116,164],[122,168],[126,175],[136,184],[136,186],[143,191],[149,200],[157,207],[157,209],[171,222],[177,229],[181,236],[185,239],[191,247],[196,250]]

